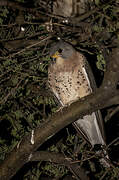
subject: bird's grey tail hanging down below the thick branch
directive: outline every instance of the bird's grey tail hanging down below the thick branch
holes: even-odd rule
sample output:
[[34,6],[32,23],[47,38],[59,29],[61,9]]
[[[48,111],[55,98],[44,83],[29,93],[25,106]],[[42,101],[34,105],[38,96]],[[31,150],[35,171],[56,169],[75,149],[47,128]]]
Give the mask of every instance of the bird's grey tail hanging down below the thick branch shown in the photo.
[[92,147],[95,145],[101,145],[102,150],[97,152],[103,154],[103,158],[100,159],[100,162],[103,166],[109,167],[108,153],[103,149],[103,147],[106,146],[106,142],[100,111],[93,112],[90,115],[84,116],[83,119],[77,120],[74,122],[74,127],[78,133],[80,133],[84,139],[92,145]]

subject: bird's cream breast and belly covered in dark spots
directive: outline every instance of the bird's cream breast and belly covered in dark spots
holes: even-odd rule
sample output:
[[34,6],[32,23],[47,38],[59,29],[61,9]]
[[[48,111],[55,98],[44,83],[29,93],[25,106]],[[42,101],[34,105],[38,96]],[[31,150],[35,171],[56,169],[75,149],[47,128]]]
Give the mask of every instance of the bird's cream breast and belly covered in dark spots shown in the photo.
[[91,92],[87,77],[80,68],[70,71],[54,70],[49,74],[50,88],[62,105],[70,104]]

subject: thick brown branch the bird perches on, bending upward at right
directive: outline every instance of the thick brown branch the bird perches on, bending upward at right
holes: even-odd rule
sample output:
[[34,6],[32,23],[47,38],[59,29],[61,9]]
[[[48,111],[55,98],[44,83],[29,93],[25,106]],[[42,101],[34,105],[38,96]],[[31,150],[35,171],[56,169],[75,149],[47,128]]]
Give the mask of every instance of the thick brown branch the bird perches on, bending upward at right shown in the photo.
[[32,133],[29,133],[21,140],[19,145],[0,164],[2,180],[12,178],[30,160],[32,153],[62,128],[86,114],[110,106],[112,103],[115,104],[115,97],[119,99],[119,92],[116,89],[117,82],[119,81],[118,58],[119,49],[113,49],[103,84],[95,93],[56,112],[53,116],[46,119],[44,124],[38,126]]

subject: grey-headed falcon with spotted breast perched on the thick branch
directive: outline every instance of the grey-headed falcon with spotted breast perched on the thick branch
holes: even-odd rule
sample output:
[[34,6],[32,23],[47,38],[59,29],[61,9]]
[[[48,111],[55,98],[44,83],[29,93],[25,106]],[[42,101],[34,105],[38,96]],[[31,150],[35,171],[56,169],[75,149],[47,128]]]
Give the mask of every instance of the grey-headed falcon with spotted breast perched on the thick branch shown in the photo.
[[[49,87],[62,106],[71,104],[94,91],[96,88],[94,77],[83,54],[70,44],[60,41],[51,48],[51,56],[53,60],[48,68]],[[92,147],[97,144],[106,145],[100,111],[86,115],[73,124]],[[105,159],[102,161],[104,166],[109,166]]]

